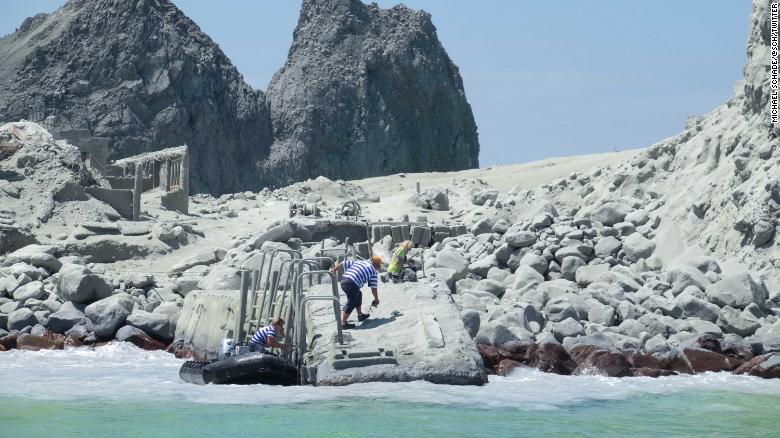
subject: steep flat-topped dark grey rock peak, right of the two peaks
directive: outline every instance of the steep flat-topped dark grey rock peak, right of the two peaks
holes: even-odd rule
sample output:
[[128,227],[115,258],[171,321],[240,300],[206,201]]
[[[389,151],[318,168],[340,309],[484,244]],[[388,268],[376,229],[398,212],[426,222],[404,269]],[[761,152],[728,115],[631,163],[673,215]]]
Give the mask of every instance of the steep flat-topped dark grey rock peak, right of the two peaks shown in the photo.
[[478,165],[460,74],[424,11],[304,1],[268,101],[275,143],[261,163],[266,181]]

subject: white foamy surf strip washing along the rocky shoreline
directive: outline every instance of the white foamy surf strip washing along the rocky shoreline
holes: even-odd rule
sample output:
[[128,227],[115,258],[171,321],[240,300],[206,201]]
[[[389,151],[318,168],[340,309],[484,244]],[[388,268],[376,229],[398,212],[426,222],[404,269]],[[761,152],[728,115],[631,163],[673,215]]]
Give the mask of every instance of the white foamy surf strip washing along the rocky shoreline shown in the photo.
[[780,381],[728,373],[659,379],[558,376],[520,369],[492,376],[483,387],[427,382],[366,383],[346,387],[191,385],[179,380],[183,360],[131,344],[96,349],[20,351],[0,354],[0,396],[47,400],[145,400],[207,404],[297,404],[338,399],[385,399],[438,405],[552,409],[585,400],[627,399],[639,394],[680,391],[734,391],[780,395]]

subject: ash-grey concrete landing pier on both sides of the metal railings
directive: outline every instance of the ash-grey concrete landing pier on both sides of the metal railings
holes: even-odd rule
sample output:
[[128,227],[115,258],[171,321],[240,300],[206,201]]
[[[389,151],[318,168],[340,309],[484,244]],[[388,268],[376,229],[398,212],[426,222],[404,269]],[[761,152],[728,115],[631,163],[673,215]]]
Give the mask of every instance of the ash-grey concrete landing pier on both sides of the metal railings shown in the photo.
[[[306,296],[331,295],[330,285],[307,288]],[[341,305],[346,296],[339,290]],[[369,311],[370,289],[363,288]],[[371,318],[336,336],[333,304],[306,304],[307,353],[301,372],[314,385],[426,380],[451,385],[481,385],[487,375],[476,344],[442,282],[379,284],[380,305]],[[176,341],[206,357],[216,357],[230,334],[239,308],[238,291],[193,291],[184,300]],[[282,342],[293,343],[292,339]]]

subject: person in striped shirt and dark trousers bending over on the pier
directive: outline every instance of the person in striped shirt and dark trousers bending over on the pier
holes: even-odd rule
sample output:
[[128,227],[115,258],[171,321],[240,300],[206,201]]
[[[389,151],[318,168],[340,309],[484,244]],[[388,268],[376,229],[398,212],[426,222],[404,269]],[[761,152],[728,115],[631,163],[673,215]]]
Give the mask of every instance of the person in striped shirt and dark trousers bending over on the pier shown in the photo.
[[358,321],[365,321],[368,319],[368,315],[363,313],[363,293],[360,288],[368,283],[368,287],[371,288],[371,293],[374,295],[374,301],[371,305],[379,305],[379,292],[377,291],[377,269],[382,267],[382,258],[379,256],[371,257],[371,261],[363,260],[345,260],[343,263],[337,263],[336,266],[331,269],[331,272],[336,272],[341,268],[344,268],[344,274],[341,276],[341,290],[347,296],[347,304],[341,312],[341,326],[343,328],[355,328],[355,324],[347,322],[347,318],[353,310],[357,310]]

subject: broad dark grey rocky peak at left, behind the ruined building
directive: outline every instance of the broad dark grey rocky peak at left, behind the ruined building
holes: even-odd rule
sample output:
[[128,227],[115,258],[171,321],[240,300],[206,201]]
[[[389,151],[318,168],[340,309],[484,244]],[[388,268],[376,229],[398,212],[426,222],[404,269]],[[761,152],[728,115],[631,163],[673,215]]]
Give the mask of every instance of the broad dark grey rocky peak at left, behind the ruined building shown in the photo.
[[170,1],[72,0],[0,39],[0,58],[0,120],[42,102],[47,124],[107,137],[112,158],[187,143],[195,190],[256,186],[263,93]]

